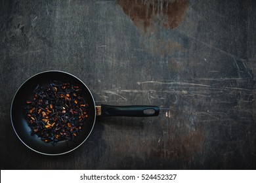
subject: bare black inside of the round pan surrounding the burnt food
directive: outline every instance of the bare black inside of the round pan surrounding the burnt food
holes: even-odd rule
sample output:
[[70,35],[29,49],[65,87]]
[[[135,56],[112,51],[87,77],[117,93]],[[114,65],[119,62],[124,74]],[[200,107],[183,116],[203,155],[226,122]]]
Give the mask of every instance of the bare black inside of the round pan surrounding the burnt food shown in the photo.
[[[51,142],[43,142],[37,135],[31,135],[31,129],[24,119],[24,107],[26,101],[33,99],[33,90],[39,84],[43,87],[49,86],[52,81],[70,82],[81,88],[81,96],[89,104],[88,118],[75,141],[60,141],[55,146]],[[90,135],[95,124],[95,102],[87,86],[78,78],[61,71],[47,71],[32,76],[16,92],[11,107],[12,126],[19,139],[35,152],[47,155],[58,155],[70,152],[80,146]]]

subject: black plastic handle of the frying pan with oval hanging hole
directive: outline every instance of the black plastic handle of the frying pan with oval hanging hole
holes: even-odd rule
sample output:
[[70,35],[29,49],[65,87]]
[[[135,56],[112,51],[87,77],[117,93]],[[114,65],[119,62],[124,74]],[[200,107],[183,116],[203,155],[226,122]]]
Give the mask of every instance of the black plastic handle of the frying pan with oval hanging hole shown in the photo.
[[101,105],[101,116],[133,116],[133,117],[150,117],[158,116],[160,110],[157,106],[149,105],[129,105],[114,106]]

